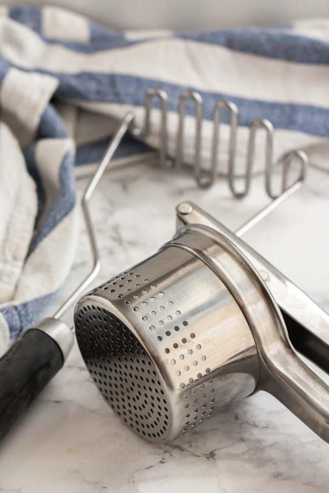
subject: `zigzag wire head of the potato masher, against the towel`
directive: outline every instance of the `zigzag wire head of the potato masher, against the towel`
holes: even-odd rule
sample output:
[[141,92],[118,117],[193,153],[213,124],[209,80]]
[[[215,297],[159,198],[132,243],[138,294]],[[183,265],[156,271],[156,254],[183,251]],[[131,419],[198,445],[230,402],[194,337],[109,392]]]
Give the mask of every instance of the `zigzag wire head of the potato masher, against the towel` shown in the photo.
[[[188,125],[187,106],[192,105],[194,107],[194,120],[192,121],[195,127],[194,142],[189,147],[189,156],[192,162],[186,165],[186,157],[184,150],[185,145],[185,127]],[[265,191],[267,195],[275,199],[281,195],[289,185],[289,172],[294,164],[299,167],[299,173],[296,181],[303,181],[305,178],[306,167],[308,159],[304,151],[293,149],[285,153],[281,158],[274,162],[273,160],[273,142],[275,139],[275,129],[272,123],[267,119],[255,119],[250,122],[249,136],[246,145],[246,164],[245,172],[238,173],[236,166],[237,155],[237,135],[238,135],[238,122],[239,122],[239,109],[237,106],[226,100],[217,101],[213,109],[213,120],[210,136],[210,165],[207,167],[202,166],[202,149],[207,144],[203,141],[202,127],[203,127],[203,113],[204,103],[202,96],[196,91],[186,90],[180,93],[178,98],[178,120],[177,128],[174,132],[174,139],[169,142],[168,129],[169,124],[169,109],[168,109],[168,94],[163,89],[150,88],[145,93],[144,100],[144,115],[143,123],[137,125],[137,121],[134,118],[130,125],[131,134],[137,139],[148,142],[151,146],[156,146],[157,151],[150,153],[128,156],[121,158],[118,164],[133,164],[138,163],[141,160],[143,162],[150,161],[156,162],[162,167],[172,167],[174,170],[185,169],[192,170],[196,183],[201,188],[208,188],[213,185],[216,177],[219,175],[218,167],[220,162],[220,149],[223,147],[223,138],[221,137],[223,129],[223,114],[227,114],[228,124],[228,158],[226,163],[226,170],[224,174],[228,180],[230,191],[235,198],[245,197],[251,186],[251,177],[254,167],[255,156],[257,155],[257,149],[259,143],[257,142],[257,134],[259,130],[263,130],[265,133],[265,145],[262,149],[264,154],[264,177],[265,177]],[[225,115],[224,115],[225,116]],[[159,121],[159,131],[157,129],[152,130],[152,125],[155,121]],[[142,127],[142,129],[140,129]],[[174,140],[174,145],[172,143]],[[208,144],[209,145],[209,144]],[[261,147],[260,147],[261,150]],[[259,150],[259,154],[261,154]],[[241,152],[241,149],[240,149]],[[278,189],[276,183],[275,171],[282,165],[281,184]],[[223,167],[222,167],[223,169]],[[82,169],[81,173],[85,173]],[[296,172],[295,172],[296,174]],[[222,172],[223,175],[223,172]],[[295,181],[295,182],[296,182]]]

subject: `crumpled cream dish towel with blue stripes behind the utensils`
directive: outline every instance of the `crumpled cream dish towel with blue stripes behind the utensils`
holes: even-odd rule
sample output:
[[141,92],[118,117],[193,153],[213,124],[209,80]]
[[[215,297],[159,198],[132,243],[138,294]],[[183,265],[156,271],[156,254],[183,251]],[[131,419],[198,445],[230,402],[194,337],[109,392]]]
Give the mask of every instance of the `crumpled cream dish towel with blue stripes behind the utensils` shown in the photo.
[[[276,156],[303,148],[311,164],[327,171],[328,81],[329,20],[118,32],[59,8],[0,6],[0,353],[40,318],[71,267],[79,230],[74,167],[100,159],[128,109],[142,128],[148,88],[168,93],[170,153],[178,97],[191,89],[204,101],[203,163],[215,103],[228,99],[240,112],[238,166],[245,163],[248,125],[268,118],[276,127]],[[154,147],[157,111],[147,141]],[[187,112],[189,161],[193,107]],[[117,156],[145,150],[145,143],[126,138]]]

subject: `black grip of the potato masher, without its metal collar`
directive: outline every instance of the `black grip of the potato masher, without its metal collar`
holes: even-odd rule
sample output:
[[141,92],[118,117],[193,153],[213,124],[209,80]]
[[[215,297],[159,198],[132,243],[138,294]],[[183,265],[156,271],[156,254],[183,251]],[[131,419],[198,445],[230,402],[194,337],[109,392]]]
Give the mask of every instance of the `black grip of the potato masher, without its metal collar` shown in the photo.
[[0,358],[0,440],[63,363],[58,344],[39,329],[29,329]]

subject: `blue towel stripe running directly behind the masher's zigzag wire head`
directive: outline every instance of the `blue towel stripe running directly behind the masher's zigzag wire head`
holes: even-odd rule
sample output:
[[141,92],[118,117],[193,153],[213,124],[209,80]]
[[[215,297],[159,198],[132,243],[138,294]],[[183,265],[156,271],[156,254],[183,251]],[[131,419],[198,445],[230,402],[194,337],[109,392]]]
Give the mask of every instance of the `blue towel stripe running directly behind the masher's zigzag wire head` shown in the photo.
[[[82,72],[71,75],[55,73],[60,80],[56,90],[59,98],[101,101],[142,106],[144,94],[150,87],[160,87],[170,94],[168,107],[177,110],[179,94],[186,87],[152,79],[142,79],[133,75]],[[189,89],[197,90],[190,87]],[[326,137],[329,135],[329,109],[312,105],[278,103],[240,98],[227,93],[198,91],[204,101],[204,118],[212,120],[215,104],[221,99],[230,100],[239,108],[239,124],[249,125],[255,118],[268,118],[276,128],[297,130],[310,135]],[[193,114],[193,106],[187,105],[187,113]],[[223,122],[228,123],[228,115]]]

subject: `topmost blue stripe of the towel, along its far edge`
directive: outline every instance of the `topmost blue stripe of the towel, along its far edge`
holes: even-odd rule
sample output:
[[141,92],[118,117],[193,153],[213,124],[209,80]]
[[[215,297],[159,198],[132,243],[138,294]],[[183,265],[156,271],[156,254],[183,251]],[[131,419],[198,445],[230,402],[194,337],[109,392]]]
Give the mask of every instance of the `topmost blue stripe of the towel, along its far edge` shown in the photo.
[[[53,42],[42,34],[41,7],[11,7],[9,16],[35,32],[46,42]],[[109,29],[95,22],[89,22],[90,41],[78,43],[55,40],[56,43],[74,51],[94,53],[107,49],[124,48],[150,39],[129,40],[124,33]],[[223,46],[267,58],[286,60],[294,63],[329,65],[329,43],[315,38],[302,36],[288,27],[280,28],[236,28],[208,32],[183,32],[172,36],[173,39],[194,41],[210,45]]]

